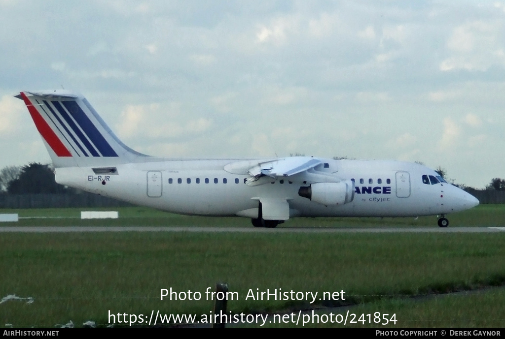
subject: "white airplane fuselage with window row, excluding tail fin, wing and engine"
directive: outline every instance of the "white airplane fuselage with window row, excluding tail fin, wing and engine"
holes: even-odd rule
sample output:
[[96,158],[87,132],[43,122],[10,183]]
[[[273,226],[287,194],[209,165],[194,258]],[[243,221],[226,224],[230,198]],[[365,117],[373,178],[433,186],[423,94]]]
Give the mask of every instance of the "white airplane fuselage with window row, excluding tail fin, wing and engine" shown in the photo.
[[[475,197],[456,186],[423,182],[423,175],[437,174],[419,164],[320,160],[324,165],[310,171],[271,180],[267,177],[268,182],[256,186],[245,183],[250,178],[247,161],[233,159],[146,158],[144,162],[112,164],[114,171],[109,173],[91,167],[58,168],[56,180],[88,192],[185,215],[258,218],[261,199],[287,201],[289,217],[443,215],[478,205]],[[245,163],[243,168],[230,166],[240,163]],[[343,180],[352,180],[355,185],[354,197],[345,204],[325,206],[298,194],[302,186]]]

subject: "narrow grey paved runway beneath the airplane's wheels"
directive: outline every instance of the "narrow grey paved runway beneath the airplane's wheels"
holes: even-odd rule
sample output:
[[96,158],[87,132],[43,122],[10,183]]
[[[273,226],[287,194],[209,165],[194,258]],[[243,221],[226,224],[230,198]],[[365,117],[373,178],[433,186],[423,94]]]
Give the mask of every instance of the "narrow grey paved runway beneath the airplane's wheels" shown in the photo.
[[0,233],[194,232],[194,233],[500,233],[505,227],[153,227],[153,226],[0,226]]

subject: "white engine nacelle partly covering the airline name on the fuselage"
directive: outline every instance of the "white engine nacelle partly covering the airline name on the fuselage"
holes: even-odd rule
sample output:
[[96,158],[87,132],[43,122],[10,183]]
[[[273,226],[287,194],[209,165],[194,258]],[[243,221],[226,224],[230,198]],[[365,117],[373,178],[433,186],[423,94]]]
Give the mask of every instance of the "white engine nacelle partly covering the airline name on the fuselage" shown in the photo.
[[343,205],[354,199],[354,181],[317,182],[300,187],[298,195],[325,206]]

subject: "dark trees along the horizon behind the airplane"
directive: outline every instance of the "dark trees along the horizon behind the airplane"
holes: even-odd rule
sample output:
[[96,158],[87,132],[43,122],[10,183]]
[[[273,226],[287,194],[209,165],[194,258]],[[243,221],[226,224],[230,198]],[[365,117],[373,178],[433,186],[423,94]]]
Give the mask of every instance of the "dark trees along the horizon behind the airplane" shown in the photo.
[[[296,154],[298,155],[298,154]],[[346,157],[333,157],[346,159]],[[446,171],[438,167],[436,172],[444,179]],[[466,185],[462,188],[479,190]],[[486,190],[505,191],[505,179],[492,178]],[[76,190],[55,181],[55,171],[50,164],[29,163],[24,166],[7,166],[0,171],[0,194],[75,193]]]

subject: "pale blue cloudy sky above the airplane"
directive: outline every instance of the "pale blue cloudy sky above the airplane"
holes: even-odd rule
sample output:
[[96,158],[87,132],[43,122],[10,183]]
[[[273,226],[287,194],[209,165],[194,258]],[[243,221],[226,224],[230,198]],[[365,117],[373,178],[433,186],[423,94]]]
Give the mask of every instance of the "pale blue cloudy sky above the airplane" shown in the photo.
[[0,22],[0,169],[50,161],[13,96],[65,88],[149,155],[505,178],[505,1],[0,0]]

